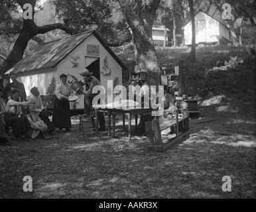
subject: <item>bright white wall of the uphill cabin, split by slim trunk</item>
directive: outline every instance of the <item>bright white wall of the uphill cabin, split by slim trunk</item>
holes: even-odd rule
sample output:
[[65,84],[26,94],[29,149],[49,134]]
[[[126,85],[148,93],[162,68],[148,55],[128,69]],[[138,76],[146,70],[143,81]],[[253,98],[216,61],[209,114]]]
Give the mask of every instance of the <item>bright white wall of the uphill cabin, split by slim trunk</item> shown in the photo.
[[[219,41],[220,23],[218,21],[202,12],[196,15],[195,21],[196,44],[214,43]],[[186,45],[192,44],[192,21],[184,26],[184,39]]]

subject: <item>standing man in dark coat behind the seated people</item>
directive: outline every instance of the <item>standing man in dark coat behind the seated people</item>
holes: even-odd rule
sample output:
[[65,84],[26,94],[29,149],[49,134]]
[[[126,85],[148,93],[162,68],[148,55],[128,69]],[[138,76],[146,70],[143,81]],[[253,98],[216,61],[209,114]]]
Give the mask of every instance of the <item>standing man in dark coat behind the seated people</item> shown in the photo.
[[2,91],[3,99],[7,100],[11,95],[11,91],[13,89],[17,89],[21,93],[21,101],[26,101],[27,95],[26,95],[25,87],[24,87],[23,83],[21,83],[17,80],[17,74],[14,72],[11,72],[10,78],[11,78],[12,82],[7,83],[7,85],[5,85],[5,87],[3,88],[3,91]]

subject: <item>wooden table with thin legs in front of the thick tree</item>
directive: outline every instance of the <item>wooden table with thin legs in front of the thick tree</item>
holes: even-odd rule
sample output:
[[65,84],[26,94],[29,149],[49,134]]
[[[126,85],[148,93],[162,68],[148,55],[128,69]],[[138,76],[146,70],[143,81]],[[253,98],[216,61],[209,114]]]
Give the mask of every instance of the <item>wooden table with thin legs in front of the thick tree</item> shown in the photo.
[[128,136],[129,140],[131,140],[131,119],[133,115],[135,115],[135,126],[137,127],[138,125],[138,115],[141,115],[143,117],[143,114],[145,113],[151,113],[152,109],[144,109],[144,108],[104,108],[104,107],[94,107],[96,110],[96,132],[98,129],[98,117],[97,117],[97,112],[107,112],[108,116],[108,131],[109,131],[109,136],[111,136],[111,117],[113,121],[113,137],[115,137],[115,118],[116,115],[123,115],[123,130],[125,129],[125,115],[128,117]]

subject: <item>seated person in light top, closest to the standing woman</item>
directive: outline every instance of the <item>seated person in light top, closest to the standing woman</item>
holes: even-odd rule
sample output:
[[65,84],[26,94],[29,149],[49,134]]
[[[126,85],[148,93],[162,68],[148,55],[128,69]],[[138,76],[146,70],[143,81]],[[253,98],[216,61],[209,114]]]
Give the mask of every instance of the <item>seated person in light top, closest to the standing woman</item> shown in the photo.
[[37,87],[32,87],[32,95],[28,97],[28,101],[33,103],[29,107],[29,121],[33,129],[40,129],[42,132],[48,131],[49,133],[54,131],[54,125],[48,118],[48,113],[44,109],[42,99]]

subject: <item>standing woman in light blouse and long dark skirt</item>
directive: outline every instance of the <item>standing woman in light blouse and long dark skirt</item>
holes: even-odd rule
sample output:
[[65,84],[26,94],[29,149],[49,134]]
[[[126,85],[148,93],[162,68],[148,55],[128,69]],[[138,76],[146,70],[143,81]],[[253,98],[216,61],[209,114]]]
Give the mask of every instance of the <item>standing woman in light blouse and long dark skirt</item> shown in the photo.
[[54,109],[52,115],[52,123],[60,131],[65,129],[66,132],[70,131],[70,102],[68,97],[72,95],[71,85],[67,83],[68,76],[66,74],[60,75],[61,83],[56,85],[54,101]]

